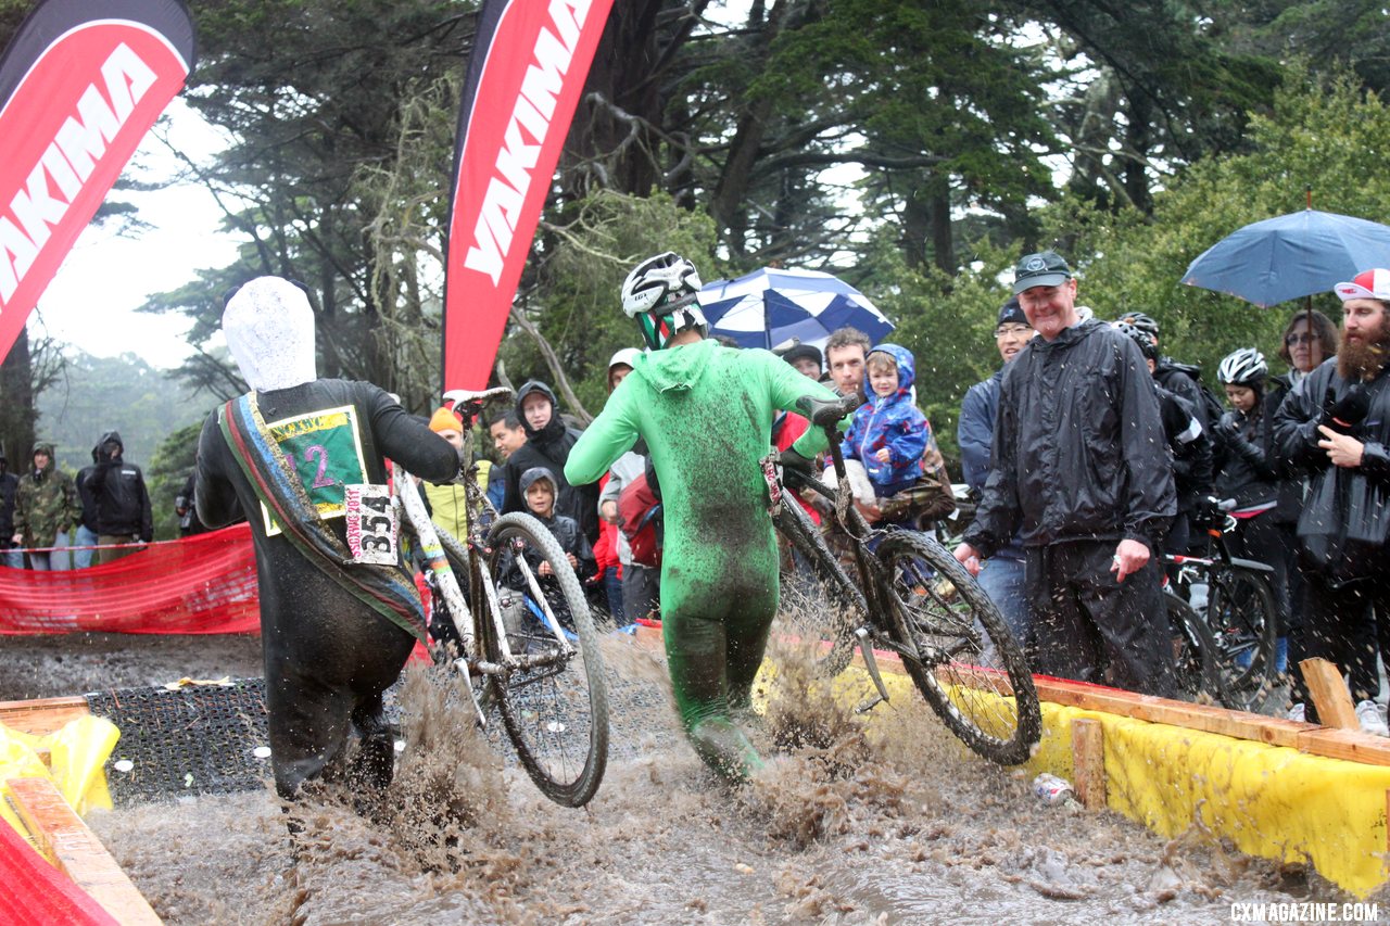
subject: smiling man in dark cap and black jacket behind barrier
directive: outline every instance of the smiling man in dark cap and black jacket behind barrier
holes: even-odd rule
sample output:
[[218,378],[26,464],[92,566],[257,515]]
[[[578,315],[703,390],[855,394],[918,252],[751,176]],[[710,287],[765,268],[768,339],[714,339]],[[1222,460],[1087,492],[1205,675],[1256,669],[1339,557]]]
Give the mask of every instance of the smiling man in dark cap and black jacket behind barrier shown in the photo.
[[1020,535],[1034,667],[1172,697],[1158,553],[1176,501],[1148,366],[1080,320],[1061,254],[1026,254],[1013,295],[1037,336],[999,381],[990,476],[955,556],[979,573]]

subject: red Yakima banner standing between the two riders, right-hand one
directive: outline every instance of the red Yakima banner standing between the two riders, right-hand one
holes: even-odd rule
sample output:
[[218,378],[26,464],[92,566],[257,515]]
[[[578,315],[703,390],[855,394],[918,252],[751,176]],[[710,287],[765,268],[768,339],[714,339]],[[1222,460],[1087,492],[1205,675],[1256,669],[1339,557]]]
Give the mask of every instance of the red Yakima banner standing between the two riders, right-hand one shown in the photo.
[[459,107],[443,388],[481,389],[612,0],[486,0]]

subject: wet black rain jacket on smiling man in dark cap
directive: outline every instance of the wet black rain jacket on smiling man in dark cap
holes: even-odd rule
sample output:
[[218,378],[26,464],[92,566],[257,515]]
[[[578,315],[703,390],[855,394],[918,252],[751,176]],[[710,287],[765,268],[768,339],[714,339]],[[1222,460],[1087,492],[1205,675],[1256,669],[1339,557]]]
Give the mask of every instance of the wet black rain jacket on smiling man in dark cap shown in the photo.
[[1008,364],[994,469],[965,534],[983,556],[1024,546],[1136,539],[1151,551],[1176,513],[1158,393],[1138,345],[1098,320],[1034,338]]

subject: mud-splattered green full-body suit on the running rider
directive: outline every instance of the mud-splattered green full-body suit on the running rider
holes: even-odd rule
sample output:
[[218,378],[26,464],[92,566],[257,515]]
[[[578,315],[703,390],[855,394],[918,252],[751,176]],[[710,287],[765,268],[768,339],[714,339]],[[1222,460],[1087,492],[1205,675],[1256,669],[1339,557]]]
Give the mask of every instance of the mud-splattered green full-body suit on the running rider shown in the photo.
[[[777,410],[835,393],[767,350],[713,341],[637,359],[570,450],[564,477],[592,482],[646,441],[662,487],[662,627],[681,722],[712,767],[742,779],[762,761],[728,717],[746,706],[777,613],[777,544],[758,462]],[[820,428],[792,448],[824,449]]]

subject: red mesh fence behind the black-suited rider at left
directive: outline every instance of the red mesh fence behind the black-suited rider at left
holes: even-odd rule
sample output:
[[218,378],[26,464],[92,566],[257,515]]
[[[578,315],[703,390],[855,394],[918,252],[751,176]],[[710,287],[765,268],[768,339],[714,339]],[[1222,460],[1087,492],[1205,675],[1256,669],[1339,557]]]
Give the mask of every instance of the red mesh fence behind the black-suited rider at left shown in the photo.
[[89,569],[36,573],[0,566],[0,635],[79,630],[259,631],[252,528],[242,523],[150,544],[139,553]]

